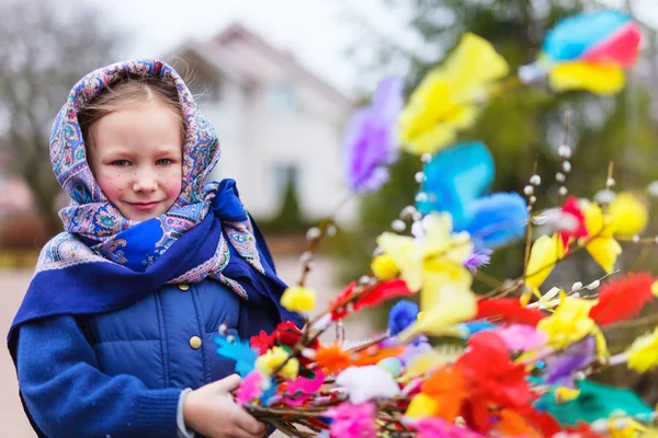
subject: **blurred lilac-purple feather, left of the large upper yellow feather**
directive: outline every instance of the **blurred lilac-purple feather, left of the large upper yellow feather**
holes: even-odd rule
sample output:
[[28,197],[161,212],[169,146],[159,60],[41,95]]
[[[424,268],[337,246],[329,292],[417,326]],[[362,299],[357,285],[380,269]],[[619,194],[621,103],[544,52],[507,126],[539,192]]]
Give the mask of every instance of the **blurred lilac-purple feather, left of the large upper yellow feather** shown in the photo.
[[388,181],[386,166],[397,159],[396,120],[402,108],[404,82],[383,79],[371,106],[348,122],[343,139],[343,170],[354,193],[377,191]]

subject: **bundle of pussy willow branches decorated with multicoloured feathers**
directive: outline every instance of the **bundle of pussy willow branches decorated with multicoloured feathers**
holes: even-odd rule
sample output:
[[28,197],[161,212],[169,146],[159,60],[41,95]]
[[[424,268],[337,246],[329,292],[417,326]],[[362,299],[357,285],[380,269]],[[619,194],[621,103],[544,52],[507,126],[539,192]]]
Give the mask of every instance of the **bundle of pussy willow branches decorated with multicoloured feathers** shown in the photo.
[[[315,309],[306,279],[333,218],[308,231],[300,279],[281,299],[303,327],[282,322],[250,339],[220,327],[217,351],[242,377],[237,403],[291,437],[658,436],[653,406],[589,379],[610,367],[658,367],[658,328],[622,353],[608,348],[610,335],[658,295],[650,274],[615,269],[620,242],[658,243],[642,235],[646,206],[614,192],[612,165],[593,199],[569,194],[568,117],[557,204],[548,209],[536,209],[536,163],[522,195],[488,194],[491,153],[480,141],[457,141],[484,103],[514,88],[620,91],[639,39],[626,15],[602,11],[565,20],[547,34],[540,59],[517,74],[489,43],[467,34],[407,102],[401,80],[383,80],[348,124],[344,173],[353,195],[372,193],[399,153],[419,155],[413,203],[376,238],[367,274],[324,310]],[[507,245],[525,245],[521,275],[483,273]],[[545,285],[556,265],[581,252],[600,275],[569,288]],[[473,292],[478,278],[491,285],[487,293]],[[360,344],[319,341],[344,319],[395,300],[385,333]]]

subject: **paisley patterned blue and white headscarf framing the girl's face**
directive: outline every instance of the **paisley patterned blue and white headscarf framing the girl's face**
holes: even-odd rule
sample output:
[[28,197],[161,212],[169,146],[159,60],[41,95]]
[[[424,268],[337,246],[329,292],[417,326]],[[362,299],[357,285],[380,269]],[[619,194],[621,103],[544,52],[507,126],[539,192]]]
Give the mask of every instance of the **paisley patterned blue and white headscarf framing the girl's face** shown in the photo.
[[[86,105],[109,85],[126,77],[160,78],[175,87],[184,118],[181,194],[167,214],[144,222],[123,217],[101,192],[89,166],[78,123],[78,115]],[[92,264],[114,264],[145,273],[182,235],[201,223],[208,212],[213,212],[214,207],[222,215],[227,212],[229,205],[237,208],[238,214],[222,218],[223,232],[218,235],[215,252],[197,266],[179,272],[164,283],[194,283],[212,277],[242,298],[248,298],[238,281],[223,274],[230,260],[228,244],[256,270],[264,274],[265,269],[249,217],[240,208],[235,183],[224,181],[205,184],[218,159],[219,145],[212,126],[198,111],[181,77],[167,64],[129,60],[87,74],[71,90],[53,127],[50,161],[59,184],[71,197],[71,204],[59,212],[65,232],[46,244],[36,266],[36,275]]]

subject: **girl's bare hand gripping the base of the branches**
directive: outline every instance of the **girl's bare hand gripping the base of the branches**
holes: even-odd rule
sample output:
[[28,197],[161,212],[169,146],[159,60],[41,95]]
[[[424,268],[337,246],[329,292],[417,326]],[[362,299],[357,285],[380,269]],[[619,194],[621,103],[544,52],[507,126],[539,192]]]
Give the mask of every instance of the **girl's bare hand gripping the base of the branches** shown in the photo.
[[231,374],[190,392],[183,401],[185,425],[208,438],[262,438],[265,425],[234,402],[240,376]]

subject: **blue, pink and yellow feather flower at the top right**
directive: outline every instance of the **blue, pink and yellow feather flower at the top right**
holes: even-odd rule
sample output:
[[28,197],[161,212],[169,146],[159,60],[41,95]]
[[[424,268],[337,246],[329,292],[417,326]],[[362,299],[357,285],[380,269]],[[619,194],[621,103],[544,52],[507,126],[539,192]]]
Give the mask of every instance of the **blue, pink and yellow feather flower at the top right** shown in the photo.
[[547,73],[557,91],[616,93],[625,85],[623,69],[637,59],[640,39],[637,23],[617,11],[570,16],[547,33],[540,60],[519,74],[532,81]]

